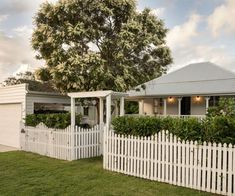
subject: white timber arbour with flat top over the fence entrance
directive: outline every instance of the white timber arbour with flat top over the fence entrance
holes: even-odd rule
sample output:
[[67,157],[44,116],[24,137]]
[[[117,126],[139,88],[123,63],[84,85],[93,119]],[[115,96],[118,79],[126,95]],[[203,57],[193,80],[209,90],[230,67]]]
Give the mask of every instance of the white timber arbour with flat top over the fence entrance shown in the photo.
[[125,97],[128,96],[127,93],[123,92],[114,92],[111,90],[105,91],[90,91],[90,92],[74,92],[68,93],[68,96],[71,98],[71,126],[75,127],[75,99],[86,99],[86,98],[98,98],[99,99],[99,124],[104,123],[104,100],[106,100],[106,127],[109,130],[110,122],[111,122],[111,104],[112,99],[118,100],[120,99],[120,112],[118,112],[117,102],[115,103],[116,110],[115,114],[120,116],[124,116],[124,101]]

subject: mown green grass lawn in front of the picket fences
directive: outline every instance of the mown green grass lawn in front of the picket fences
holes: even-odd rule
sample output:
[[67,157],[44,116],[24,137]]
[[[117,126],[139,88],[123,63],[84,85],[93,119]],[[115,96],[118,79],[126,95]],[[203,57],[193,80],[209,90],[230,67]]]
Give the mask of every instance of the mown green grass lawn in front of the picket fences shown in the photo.
[[73,162],[0,153],[0,195],[211,195],[102,169],[101,158]]

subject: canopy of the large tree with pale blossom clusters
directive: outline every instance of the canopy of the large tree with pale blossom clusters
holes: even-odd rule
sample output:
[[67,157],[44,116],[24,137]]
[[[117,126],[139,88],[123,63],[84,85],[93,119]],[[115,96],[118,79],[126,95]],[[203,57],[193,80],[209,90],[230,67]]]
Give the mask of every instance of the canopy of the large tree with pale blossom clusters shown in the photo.
[[125,91],[172,62],[164,22],[134,0],[45,2],[34,25],[32,46],[47,69],[38,76],[62,92]]

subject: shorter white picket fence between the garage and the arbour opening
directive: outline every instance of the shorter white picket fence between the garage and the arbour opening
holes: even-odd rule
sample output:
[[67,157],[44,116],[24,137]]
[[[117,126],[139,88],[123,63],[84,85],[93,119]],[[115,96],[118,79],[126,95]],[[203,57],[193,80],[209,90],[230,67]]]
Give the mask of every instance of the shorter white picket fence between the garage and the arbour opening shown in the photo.
[[50,129],[44,124],[37,127],[22,126],[21,149],[64,160],[100,156],[104,128],[104,125],[91,129],[73,129],[71,126],[66,129]]

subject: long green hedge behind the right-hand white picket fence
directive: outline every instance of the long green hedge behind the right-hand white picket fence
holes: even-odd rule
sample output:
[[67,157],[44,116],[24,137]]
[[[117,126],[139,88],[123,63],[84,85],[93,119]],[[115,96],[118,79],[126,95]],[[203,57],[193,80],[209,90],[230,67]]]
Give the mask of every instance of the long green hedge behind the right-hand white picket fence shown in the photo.
[[235,144],[235,118],[216,116],[198,121],[196,118],[117,117],[112,121],[115,133],[150,136],[168,130],[182,140]]

